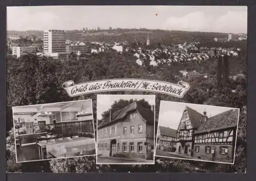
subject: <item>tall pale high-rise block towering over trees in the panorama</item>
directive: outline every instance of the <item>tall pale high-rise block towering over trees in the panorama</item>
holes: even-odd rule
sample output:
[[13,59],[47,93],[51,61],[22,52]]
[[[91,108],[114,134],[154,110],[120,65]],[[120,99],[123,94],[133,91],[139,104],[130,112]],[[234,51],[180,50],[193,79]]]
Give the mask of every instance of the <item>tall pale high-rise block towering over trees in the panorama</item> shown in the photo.
[[66,53],[66,32],[64,30],[44,31],[44,53],[46,55]]

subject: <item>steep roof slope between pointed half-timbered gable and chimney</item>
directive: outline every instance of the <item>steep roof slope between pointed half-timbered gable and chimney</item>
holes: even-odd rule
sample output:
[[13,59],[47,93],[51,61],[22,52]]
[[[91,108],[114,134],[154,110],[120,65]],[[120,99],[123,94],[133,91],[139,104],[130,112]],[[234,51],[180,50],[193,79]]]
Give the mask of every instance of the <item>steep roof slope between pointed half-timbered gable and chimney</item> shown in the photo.
[[204,115],[200,114],[198,111],[186,106],[185,110],[187,110],[188,117],[193,128],[199,127],[204,122]]

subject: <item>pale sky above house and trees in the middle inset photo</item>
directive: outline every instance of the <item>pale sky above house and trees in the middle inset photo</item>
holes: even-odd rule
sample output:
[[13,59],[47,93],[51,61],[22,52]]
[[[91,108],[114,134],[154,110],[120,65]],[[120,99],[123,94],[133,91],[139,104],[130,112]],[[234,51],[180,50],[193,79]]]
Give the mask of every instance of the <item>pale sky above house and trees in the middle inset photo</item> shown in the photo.
[[115,101],[130,99],[145,99],[150,105],[155,105],[155,95],[97,95],[97,119],[100,120],[101,114],[111,108]]

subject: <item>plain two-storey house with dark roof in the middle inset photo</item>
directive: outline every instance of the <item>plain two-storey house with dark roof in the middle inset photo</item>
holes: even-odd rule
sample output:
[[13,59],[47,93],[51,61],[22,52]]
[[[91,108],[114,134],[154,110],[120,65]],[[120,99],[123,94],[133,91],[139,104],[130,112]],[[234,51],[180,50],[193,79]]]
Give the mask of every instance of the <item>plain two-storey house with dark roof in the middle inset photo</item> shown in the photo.
[[98,155],[153,160],[154,106],[134,102],[98,125]]

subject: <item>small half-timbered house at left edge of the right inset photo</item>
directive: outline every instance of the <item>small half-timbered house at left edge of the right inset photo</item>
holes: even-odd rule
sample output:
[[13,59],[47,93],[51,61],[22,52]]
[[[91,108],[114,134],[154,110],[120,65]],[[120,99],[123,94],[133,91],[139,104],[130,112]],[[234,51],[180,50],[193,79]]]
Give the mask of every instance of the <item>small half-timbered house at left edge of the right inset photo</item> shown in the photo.
[[[157,133],[157,149],[162,151],[175,151],[177,142],[177,130],[159,126]],[[175,148],[175,149],[173,149]]]

